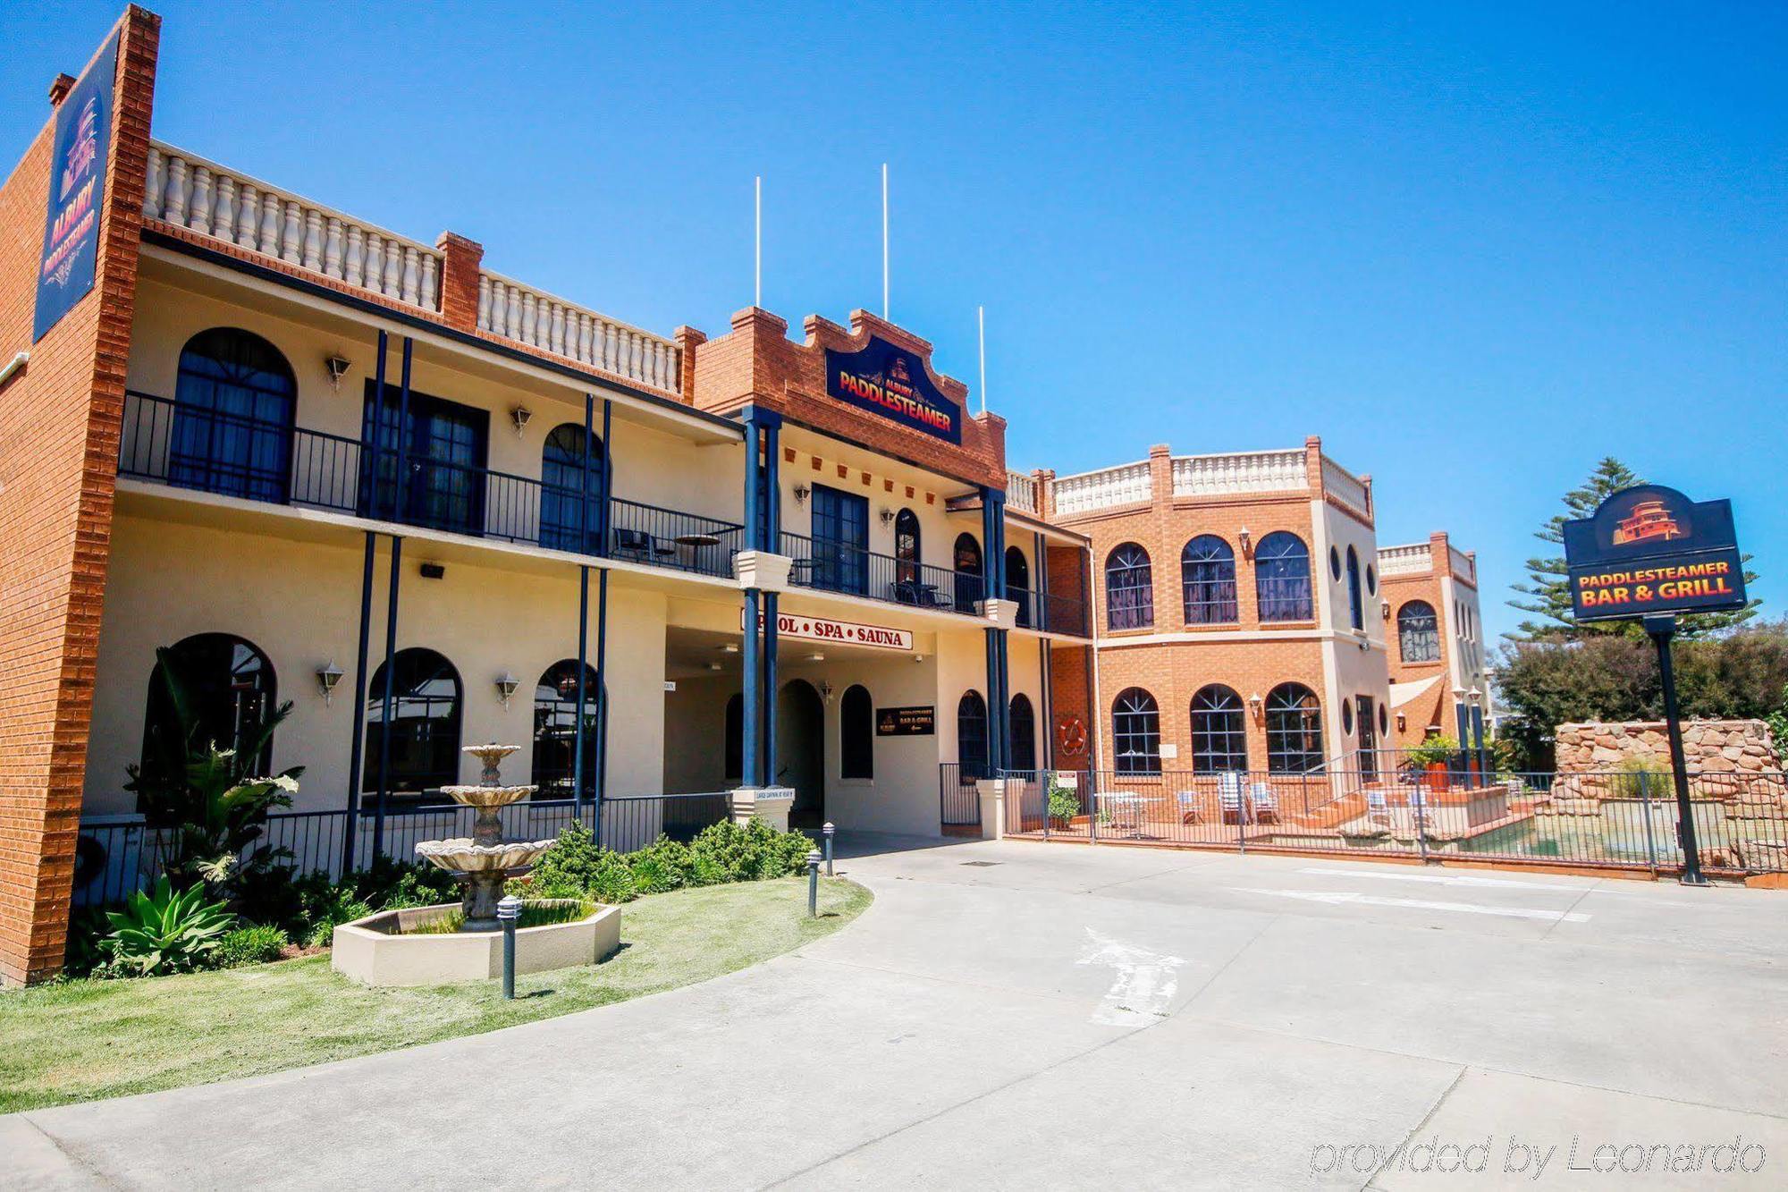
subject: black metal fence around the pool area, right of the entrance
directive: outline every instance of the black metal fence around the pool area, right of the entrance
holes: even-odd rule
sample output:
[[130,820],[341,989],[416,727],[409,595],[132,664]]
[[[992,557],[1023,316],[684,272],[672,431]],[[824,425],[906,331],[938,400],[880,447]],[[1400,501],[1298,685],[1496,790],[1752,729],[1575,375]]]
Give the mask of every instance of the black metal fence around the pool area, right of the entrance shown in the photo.
[[[1475,768],[1404,766],[1300,775],[1030,770],[1005,777],[1005,832],[1017,838],[1539,861],[1652,873],[1677,872],[1684,863],[1668,773],[1480,779]],[[942,779],[946,789],[949,779]],[[1691,773],[1690,811],[1704,872],[1788,872],[1788,779],[1781,771]]]

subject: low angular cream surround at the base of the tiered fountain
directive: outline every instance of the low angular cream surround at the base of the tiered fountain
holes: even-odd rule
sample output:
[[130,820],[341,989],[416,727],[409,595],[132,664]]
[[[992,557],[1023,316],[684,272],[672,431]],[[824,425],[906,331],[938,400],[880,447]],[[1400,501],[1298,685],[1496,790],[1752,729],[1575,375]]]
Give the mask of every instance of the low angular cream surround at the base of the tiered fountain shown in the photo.
[[[415,932],[461,911],[458,902],[379,911],[334,929],[329,966],[372,986],[452,984],[502,975],[501,931]],[[569,924],[520,927],[515,972],[594,965],[620,947],[620,907],[599,906]]]

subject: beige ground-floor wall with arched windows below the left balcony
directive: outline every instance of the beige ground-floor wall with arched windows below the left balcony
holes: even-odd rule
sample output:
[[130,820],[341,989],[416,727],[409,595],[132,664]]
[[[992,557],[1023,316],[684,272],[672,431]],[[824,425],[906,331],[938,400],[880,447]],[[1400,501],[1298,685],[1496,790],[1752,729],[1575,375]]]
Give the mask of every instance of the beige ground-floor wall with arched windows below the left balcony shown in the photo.
[[[552,662],[578,651],[576,571],[565,567],[556,576],[456,560],[447,564],[445,578],[424,580],[418,566],[429,557],[426,541],[406,542],[397,646],[427,646],[454,664],[461,743],[522,745],[506,762],[506,775],[526,782],[535,682]],[[245,637],[272,660],[279,698],[295,705],[274,739],[274,768],[306,766],[295,805],[345,805],[354,693],[365,685],[354,675],[361,558],[359,535],[313,542],[122,515],[100,628],[88,814],[134,809],[122,784],[125,764],[141,752],[156,646],[202,632]],[[368,669],[384,653],[386,560],[381,542]],[[590,616],[594,659],[594,594]],[[610,630],[608,789],[656,793],[665,725],[665,596],[611,583]],[[333,702],[324,703],[315,673],[329,660],[345,675]],[[504,671],[522,684],[508,707],[495,689]],[[463,761],[461,780],[476,780],[476,761]]]

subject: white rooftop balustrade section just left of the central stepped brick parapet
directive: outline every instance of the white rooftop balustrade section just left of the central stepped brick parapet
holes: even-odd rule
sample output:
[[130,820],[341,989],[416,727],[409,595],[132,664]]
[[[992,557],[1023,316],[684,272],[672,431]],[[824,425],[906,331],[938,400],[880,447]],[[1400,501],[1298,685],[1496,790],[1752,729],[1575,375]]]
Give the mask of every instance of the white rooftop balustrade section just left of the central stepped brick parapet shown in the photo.
[[679,388],[678,351],[670,340],[502,274],[477,276],[477,329],[640,385],[667,392]]

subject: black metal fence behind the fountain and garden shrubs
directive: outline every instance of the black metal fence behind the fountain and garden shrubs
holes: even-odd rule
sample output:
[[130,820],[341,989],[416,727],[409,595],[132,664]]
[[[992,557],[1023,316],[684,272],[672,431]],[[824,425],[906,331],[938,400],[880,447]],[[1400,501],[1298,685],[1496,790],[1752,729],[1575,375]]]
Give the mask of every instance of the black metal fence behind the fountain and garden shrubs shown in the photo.
[[[243,850],[241,861],[272,854],[268,861],[291,872],[327,873],[342,879],[347,859],[347,834],[354,832],[352,868],[367,870],[375,856],[415,861],[417,843],[472,834],[470,807],[458,804],[390,809],[383,834],[374,816],[361,814],[350,829],[347,811],[279,811],[266,818],[266,829]],[[595,829],[592,804],[578,807],[569,798],[536,798],[510,804],[499,813],[508,839],[552,839],[565,827],[583,823]],[[624,795],[603,800],[601,843],[615,852],[635,852],[660,836],[694,839],[710,823],[731,814],[730,796],[697,795]],[[374,838],[381,838],[379,852]],[[75,906],[118,906],[131,893],[148,890],[172,859],[173,832],[143,823],[84,823],[75,847]]]

